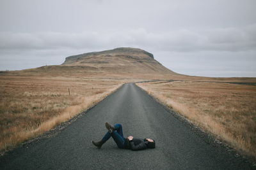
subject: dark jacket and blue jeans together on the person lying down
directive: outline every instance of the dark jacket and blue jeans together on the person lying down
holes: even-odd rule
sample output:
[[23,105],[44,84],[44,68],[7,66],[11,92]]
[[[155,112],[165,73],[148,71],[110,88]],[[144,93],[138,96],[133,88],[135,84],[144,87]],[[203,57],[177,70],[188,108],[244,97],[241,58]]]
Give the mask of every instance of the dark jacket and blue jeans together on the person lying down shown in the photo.
[[115,124],[115,131],[111,134],[107,132],[102,138],[102,141],[105,143],[110,137],[112,137],[118,146],[118,148],[131,149],[131,150],[144,150],[147,148],[147,143],[145,139],[133,138],[132,141],[124,138],[123,129],[121,124]]

